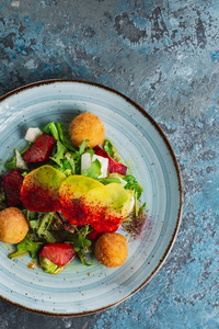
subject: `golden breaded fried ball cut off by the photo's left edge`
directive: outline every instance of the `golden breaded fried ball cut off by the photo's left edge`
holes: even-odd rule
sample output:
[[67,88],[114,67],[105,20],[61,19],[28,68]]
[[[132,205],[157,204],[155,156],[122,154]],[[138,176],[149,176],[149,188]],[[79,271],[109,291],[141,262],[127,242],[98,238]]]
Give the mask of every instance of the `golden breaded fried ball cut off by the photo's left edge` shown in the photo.
[[9,207],[0,212],[0,241],[19,243],[27,231],[28,224],[19,208]]

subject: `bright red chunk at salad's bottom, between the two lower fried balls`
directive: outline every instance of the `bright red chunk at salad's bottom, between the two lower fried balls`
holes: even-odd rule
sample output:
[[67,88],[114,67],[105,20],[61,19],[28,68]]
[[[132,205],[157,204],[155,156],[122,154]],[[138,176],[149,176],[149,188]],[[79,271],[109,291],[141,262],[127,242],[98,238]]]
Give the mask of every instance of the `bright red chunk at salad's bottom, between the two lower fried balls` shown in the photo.
[[54,264],[64,266],[76,256],[76,250],[70,243],[47,243],[39,252],[39,257],[45,257]]

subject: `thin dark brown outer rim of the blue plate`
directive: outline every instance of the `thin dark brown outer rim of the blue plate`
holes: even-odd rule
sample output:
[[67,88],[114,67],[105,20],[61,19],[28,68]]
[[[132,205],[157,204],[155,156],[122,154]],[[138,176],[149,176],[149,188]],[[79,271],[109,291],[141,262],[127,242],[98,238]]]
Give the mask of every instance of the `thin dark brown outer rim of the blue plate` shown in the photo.
[[143,282],[140,284],[140,286],[138,286],[135,291],[132,291],[131,293],[129,293],[126,297],[119,299],[118,302],[115,302],[111,305],[107,305],[103,308],[99,308],[99,309],[95,309],[95,310],[88,310],[88,311],[84,311],[84,313],[70,313],[70,314],[57,314],[57,313],[51,313],[51,311],[43,311],[43,310],[38,310],[38,309],[34,309],[34,308],[28,308],[28,307],[25,307],[19,303],[15,303],[15,302],[12,302],[5,297],[3,297],[2,295],[0,295],[0,298],[3,299],[4,302],[8,302],[10,304],[12,304],[13,306],[16,306],[19,308],[22,308],[24,310],[27,310],[27,311],[31,311],[31,313],[34,313],[34,314],[39,314],[39,315],[44,315],[44,316],[54,316],[54,317],[79,317],[79,316],[88,316],[88,315],[92,315],[92,314],[96,314],[96,313],[100,313],[100,311],[103,311],[103,310],[106,310],[115,305],[118,305],[119,303],[126,300],[127,298],[131,297],[134,294],[136,294],[137,292],[139,292],[145,285],[147,285],[149,283],[149,281],[151,281],[151,279],[157,274],[157,272],[162,268],[163,263],[165,262],[169,253],[171,252],[172,250],[172,247],[175,242],[175,239],[177,237],[177,232],[178,232],[178,229],[180,229],[180,225],[181,225],[181,220],[182,220],[182,214],[183,214],[183,203],[184,203],[184,195],[183,195],[183,180],[182,180],[182,175],[181,175],[181,170],[180,170],[180,166],[178,166],[178,162],[177,162],[177,159],[176,159],[176,156],[173,151],[173,148],[168,139],[168,137],[165,136],[164,132],[162,131],[162,128],[159,126],[159,124],[152,118],[152,116],[143,109],[141,107],[138,103],[136,103],[135,101],[132,101],[131,99],[129,99],[128,97],[126,97],[125,94],[123,94],[122,92],[111,88],[111,87],[106,87],[102,83],[97,83],[97,82],[91,82],[91,81],[85,81],[85,80],[78,80],[78,79],[46,79],[46,80],[39,80],[39,81],[36,81],[36,82],[32,82],[32,83],[27,83],[27,84],[24,84],[22,87],[19,87],[19,88],[15,88],[9,92],[7,92],[5,94],[1,95],[0,97],[0,104],[5,101],[7,99],[15,95],[15,94],[19,94],[25,90],[28,90],[28,89],[33,89],[33,88],[36,88],[36,87],[42,87],[42,86],[48,86],[48,84],[53,84],[53,83],[61,83],[61,82],[69,82],[69,83],[81,83],[81,84],[87,84],[87,86],[93,86],[93,87],[97,87],[100,89],[103,89],[103,90],[106,90],[108,92],[112,92],[113,94],[116,94],[118,97],[120,97],[122,99],[124,99],[126,102],[130,103],[134,107],[136,107],[143,116],[147,117],[147,120],[150,122],[150,124],[153,125],[153,127],[157,129],[157,132],[159,133],[159,135],[161,136],[161,138],[163,139],[165,146],[168,147],[169,151],[170,151],[170,155],[171,155],[171,158],[172,158],[172,161],[173,161],[173,164],[174,164],[174,168],[175,168],[175,172],[176,172],[176,175],[177,175],[177,185],[178,185],[178,193],[180,193],[180,206],[178,206],[178,213],[177,213],[177,220],[176,220],[176,225],[175,225],[175,229],[172,234],[172,237],[171,237],[171,240],[159,262],[159,264],[157,265],[157,268],[154,269],[154,271],[150,274],[150,276]]

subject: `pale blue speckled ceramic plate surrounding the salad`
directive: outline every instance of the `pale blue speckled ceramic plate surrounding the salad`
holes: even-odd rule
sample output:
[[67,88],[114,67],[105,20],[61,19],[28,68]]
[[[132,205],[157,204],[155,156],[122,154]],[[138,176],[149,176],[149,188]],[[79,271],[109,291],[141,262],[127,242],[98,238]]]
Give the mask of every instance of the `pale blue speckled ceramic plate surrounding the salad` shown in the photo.
[[161,268],[176,237],[182,213],[182,181],[173,150],[155,122],[140,106],[103,86],[73,80],[28,84],[0,99],[1,169],[13,149],[25,147],[28,127],[71,121],[80,111],[96,114],[106,136],[145,189],[147,219],[135,239],[127,237],[125,264],[108,269],[94,260],[90,268],[73,261],[50,275],[28,269],[28,256],[9,260],[0,242],[0,295],[25,309],[79,316],[111,307],[131,296]]

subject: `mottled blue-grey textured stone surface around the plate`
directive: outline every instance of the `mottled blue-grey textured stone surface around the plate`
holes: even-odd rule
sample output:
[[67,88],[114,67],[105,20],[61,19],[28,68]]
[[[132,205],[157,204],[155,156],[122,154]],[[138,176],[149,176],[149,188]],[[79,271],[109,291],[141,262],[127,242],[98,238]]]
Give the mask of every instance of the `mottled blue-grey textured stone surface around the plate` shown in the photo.
[[0,329],[219,328],[219,1],[0,0],[0,95],[49,78],[106,84],[149,112],[181,166],[183,220],[126,302],[56,318],[0,300]]

